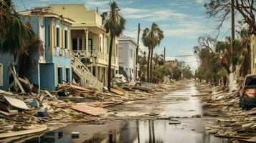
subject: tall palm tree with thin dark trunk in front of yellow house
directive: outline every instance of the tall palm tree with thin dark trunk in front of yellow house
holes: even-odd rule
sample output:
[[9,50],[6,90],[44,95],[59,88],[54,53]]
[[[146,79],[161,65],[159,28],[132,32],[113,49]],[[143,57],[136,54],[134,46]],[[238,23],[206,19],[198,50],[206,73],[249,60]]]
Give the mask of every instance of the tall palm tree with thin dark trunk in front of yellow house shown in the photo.
[[104,12],[101,16],[103,17],[103,25],[107,31],[110,33],[110,48],[108,57],[108,91],[110,91],[111,83],[111,57],[113,49],[113,39],[116,36],[120,36],[125,29],[126,21],[123,16],[119,13],[120,9],[115,1],[110,2],[110,11]]

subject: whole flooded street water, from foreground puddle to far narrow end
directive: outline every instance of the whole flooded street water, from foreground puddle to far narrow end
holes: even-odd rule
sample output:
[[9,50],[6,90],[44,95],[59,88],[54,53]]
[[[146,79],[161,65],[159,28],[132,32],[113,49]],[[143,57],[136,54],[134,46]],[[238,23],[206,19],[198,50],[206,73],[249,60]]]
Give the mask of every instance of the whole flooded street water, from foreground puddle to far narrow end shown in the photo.
[[[116,108],[122,111],[110,113],[115,114],[115,119],[105,124],[70,125],[27,142],[228,142],[205,133],[201,104],[197,97],[191,97],[194,94],[198,91],[191,82],[163,97],[119,105]],[[148,115],[157,119],[148,119]],[[129,118],[120,119],[123,117]],[[75,139],[71,132],[79,132],[80,137]]]

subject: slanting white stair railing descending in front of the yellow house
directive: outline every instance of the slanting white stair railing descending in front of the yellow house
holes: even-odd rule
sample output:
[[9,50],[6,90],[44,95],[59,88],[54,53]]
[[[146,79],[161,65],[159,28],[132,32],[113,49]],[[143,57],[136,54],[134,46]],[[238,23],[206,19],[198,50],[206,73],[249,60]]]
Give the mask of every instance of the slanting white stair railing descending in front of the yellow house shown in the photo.
[[101,84],[96,77],[90,72],[90,70],[82,64],[82,62],[77,59],[74,55],[70,54],[72,70],[75,74],[80,77],[80,79],[85,81],[85,87],[90,87],[102,91],[103,84]]

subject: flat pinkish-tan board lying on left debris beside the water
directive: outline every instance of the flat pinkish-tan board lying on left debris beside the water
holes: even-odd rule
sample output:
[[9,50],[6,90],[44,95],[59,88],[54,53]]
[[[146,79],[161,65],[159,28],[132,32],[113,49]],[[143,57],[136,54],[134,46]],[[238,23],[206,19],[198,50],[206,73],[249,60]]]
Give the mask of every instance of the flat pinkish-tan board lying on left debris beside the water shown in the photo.
[[77,105],[73,105],[71,107],[71,109],[75,109],[77,111],[86,113],[86,114],[92,114],[94,116],[98,116],[100,114],[104,114],[106,112],[108,112],[108,109],[104,109],[101,107],[91,107],[88,104],[77,104]]

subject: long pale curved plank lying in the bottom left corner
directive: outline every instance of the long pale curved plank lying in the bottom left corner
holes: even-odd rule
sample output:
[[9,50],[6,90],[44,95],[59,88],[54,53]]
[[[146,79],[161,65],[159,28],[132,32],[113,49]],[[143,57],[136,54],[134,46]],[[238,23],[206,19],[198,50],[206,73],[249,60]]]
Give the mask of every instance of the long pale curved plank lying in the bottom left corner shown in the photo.
[[39,127],[37,129],[28,129],[28,130],[17,131],[17,132],[2,133],[2,134],[0,134],[0,139],[6,138],[6,137],[22,136],[22,135],[25,135],[25,134],[34,134],[34,133],[37,133],[37,132],[43,132],[45,130],[47,130],[47,126],[43,125],[42,127]]

